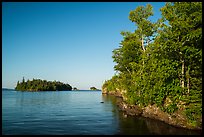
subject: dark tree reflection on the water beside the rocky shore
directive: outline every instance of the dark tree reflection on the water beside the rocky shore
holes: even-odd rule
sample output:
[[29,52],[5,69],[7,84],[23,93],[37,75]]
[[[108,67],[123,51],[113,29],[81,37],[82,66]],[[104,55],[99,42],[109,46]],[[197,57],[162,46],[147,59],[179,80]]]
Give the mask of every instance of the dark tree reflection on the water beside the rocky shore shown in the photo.
[[116,109],[118,117],[118,135],[199,135],[201,131],[187,130],[168,125],[164,122],[150,118],[127,116],[125,113],[118,111],[116,103],[121,101],[112,95],[102,94],[104,103],[111,103],[112,108]]

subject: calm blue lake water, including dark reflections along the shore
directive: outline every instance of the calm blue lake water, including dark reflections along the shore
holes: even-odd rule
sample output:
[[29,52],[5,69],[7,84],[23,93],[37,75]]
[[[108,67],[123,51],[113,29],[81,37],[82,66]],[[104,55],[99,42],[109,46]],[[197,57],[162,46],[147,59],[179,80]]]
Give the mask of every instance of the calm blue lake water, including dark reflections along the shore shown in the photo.
[[[101,91],[20,92],[2,90],[3,135],[196,135],[118,111],[118,98]],[[101,103],[104,102],[104,103]]]

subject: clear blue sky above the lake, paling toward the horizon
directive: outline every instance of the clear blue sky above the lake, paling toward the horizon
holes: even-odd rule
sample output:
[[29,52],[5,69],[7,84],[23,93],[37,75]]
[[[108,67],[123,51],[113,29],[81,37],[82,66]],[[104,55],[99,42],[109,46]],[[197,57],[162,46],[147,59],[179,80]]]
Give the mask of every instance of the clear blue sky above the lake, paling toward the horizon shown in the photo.
[[[164,2],[149,2],[155,22]],[[146,2],[3,2],[2,87],[39,78],[101,89],[115,71],[121,31],[136,27],[129,12]]]

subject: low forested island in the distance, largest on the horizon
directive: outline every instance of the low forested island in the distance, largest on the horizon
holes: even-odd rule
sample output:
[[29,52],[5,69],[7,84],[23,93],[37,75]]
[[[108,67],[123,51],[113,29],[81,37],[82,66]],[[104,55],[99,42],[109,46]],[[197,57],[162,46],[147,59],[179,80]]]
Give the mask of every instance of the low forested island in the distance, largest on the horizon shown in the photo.
[[17,82],[15,87],[17,91],[70,91],[72,87],[59,81],[46,81],[41,79],[27,80],[23,78],[22,82]]

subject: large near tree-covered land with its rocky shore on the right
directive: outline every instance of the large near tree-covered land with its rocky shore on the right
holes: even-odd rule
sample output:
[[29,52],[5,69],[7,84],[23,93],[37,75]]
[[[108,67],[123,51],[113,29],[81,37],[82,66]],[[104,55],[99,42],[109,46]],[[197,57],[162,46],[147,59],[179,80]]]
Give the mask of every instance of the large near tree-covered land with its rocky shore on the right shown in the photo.
[[103,94],[122,97],[120,108],[188,129],[202,129],[202,2],[168,2],[162,18],[153,7],[129,14],[134,32],[121,32],[113,50],[117,72]]

